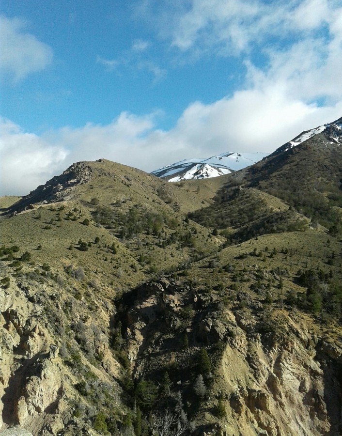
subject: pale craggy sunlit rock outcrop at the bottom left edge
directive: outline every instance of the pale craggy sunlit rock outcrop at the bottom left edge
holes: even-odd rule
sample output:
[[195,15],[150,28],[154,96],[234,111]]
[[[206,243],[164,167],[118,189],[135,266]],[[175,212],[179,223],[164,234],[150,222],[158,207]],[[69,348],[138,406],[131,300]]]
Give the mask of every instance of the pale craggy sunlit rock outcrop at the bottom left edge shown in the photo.
[[1,330],[0,428],[19,424],[34,431],[42,416],[52,417],[63,408],[57,348],[40,325],[37,308],[14,284],[1,292],[0,307],[5,327]]

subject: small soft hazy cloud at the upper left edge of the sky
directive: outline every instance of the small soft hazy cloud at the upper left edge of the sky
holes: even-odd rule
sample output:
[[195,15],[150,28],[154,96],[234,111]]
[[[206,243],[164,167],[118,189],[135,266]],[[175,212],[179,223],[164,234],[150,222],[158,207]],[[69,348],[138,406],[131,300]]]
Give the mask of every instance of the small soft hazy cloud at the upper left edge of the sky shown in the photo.
[[25,32],[25,21],[0,16],[1,76],[18,82],[52,62],[51,47]]

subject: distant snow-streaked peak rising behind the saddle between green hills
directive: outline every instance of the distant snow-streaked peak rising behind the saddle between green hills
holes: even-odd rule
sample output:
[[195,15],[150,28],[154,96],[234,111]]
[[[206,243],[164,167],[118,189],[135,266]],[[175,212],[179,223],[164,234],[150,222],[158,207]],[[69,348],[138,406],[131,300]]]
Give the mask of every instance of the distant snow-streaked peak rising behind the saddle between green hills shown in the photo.
[[229,174],[259,162],[267,153],[222,153],[218,156],[198,159],[184,159],[152,171],[157,177],[169,182],[188,179],[206,179]]

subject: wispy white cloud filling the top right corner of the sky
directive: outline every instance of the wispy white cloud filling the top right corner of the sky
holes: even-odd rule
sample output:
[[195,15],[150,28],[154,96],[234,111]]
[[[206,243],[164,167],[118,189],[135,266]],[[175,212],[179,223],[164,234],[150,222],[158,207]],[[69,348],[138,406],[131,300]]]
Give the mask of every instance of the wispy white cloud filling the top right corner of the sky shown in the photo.
[[291,79],[292,93],[308,101],[336,92],[340,98],[341,1],[190,0],[183,8],[166,1],[169,14],[155,0],[146,0],[143,12],[160,23],[159,35],[184,54],[183,62],[215,54],[255,64],[262,55],[263,72]]

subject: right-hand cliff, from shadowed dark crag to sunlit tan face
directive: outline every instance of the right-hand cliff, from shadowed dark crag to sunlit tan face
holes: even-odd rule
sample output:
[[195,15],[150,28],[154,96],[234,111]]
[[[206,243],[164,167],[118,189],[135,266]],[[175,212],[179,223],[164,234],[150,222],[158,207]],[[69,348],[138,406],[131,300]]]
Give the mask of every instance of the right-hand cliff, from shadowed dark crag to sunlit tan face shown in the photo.
[[[221,350],[214,386],[217,396],[224,396],[226,419],[220,430],[213,423],[201,434],[339,435],[342,349],[319,340],[285,311],[276,315],[287,326],[282,331],[251,334],[255,319],[227,311],[214,300],[162,282],[127,296],[121,320],[136,376],[158,371],[173,358],[182,373],[181,386],[191,386],[196,355],[172,352],[186,331],[191,345],[200,346],[205,338],[209,347],[217,344]],[[186,328],[182,308],[189,301],[198,312]]]

